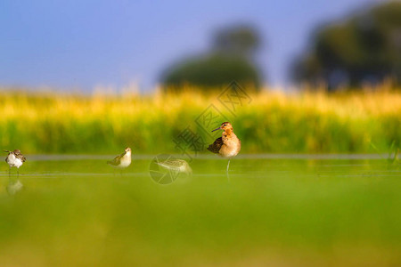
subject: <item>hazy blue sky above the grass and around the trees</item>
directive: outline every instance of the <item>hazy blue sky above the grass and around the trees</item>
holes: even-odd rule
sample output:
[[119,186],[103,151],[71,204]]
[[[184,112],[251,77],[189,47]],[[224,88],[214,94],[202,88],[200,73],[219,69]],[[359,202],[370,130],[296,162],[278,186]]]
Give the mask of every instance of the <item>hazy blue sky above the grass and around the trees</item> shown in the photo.
[[0,85],[150,90],[168,65],[206,52],[216,28],[236,23],[258,28],[258,66],[271,85],[286,85],[289,64],[315,27],[372,3],[3,0]]

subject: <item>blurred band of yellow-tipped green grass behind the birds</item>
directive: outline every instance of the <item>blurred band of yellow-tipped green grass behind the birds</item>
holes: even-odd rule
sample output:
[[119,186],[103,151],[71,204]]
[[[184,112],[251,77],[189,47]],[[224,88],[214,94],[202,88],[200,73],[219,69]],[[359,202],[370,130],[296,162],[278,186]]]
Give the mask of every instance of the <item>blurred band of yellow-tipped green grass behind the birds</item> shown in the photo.
[[214,104],[234,126],[242,152],[389,152],[401,145],[401,93],[250,93],[235,114],[217,93],[0,93],[0,146],[24,153],[179,152],[173,140]]

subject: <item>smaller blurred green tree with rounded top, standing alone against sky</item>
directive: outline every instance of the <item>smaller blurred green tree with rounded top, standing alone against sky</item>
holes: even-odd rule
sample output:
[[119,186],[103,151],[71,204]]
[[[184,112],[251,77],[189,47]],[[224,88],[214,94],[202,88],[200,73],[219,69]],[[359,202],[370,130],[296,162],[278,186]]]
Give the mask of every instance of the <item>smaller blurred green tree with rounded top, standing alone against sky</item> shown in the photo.
[[258,44],[254,28],[223,28],[217,31],[209,53],[169,67],[162,76],[162,84],[165,88],[195,85],[209,89],[237,81],[258,88],[260,77],[252,61]]

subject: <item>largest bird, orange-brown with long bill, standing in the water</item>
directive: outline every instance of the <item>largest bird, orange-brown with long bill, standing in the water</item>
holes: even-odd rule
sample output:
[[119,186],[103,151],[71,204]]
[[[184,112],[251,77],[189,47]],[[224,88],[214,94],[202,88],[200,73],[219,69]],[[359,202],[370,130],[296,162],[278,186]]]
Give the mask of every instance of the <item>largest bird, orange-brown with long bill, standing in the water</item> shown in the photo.
[[224,132],[221,137],[217,138],[215,142],[209,145],[208,150],[220,155],[223,158],[228,158],[228,174],[228,167],[230,166],[231,158],[237,156],[241,150],[241,141],[238,139],[237,135],[233,133],[233,125],[231,125],[229,122],[222,123],[212,132],[217,130],[223,130]]

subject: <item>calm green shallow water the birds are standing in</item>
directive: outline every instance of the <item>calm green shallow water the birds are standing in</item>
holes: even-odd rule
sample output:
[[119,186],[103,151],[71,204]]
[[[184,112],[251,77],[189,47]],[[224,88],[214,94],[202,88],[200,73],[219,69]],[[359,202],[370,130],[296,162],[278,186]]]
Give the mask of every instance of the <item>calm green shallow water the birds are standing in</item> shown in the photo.
[[164,184],[151,155],[122,172],[112,156],[27,158],[19,176],[0,169],[4,266],[241,265],[265,250],[279,265],[401,263],[401,164],[386,155],[241,155],[228,176],[202,155]]

